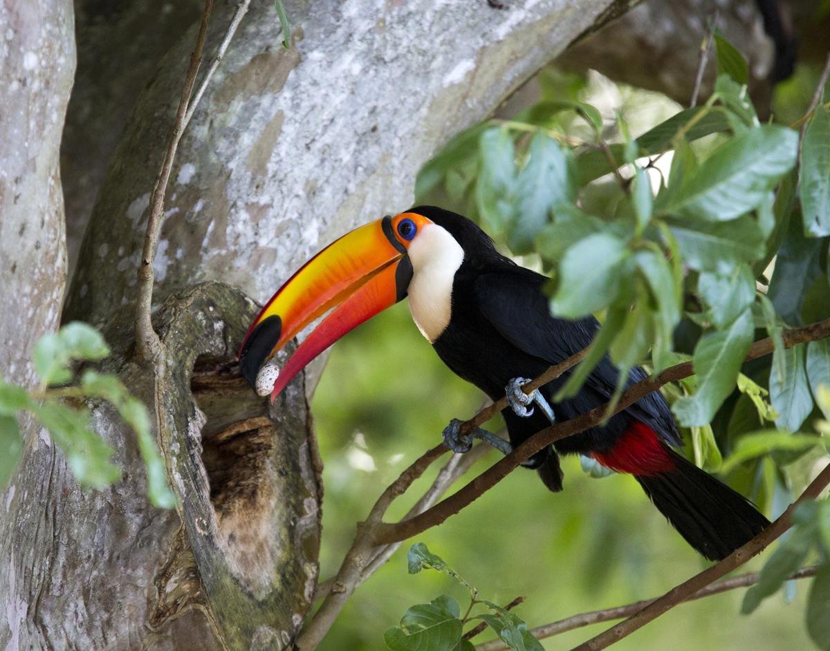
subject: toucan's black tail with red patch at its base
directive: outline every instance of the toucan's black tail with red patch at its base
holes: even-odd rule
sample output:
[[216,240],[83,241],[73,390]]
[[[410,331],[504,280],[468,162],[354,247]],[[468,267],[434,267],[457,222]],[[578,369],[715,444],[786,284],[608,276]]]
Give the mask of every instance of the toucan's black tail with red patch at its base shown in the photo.
[[[609,453],[594,456],[633,474],[677,532],[710,560],[729,556],[769,524],[743,495],[677,454],[642,423],[635,423]],[[637,468],[639,459],[644,462]]]

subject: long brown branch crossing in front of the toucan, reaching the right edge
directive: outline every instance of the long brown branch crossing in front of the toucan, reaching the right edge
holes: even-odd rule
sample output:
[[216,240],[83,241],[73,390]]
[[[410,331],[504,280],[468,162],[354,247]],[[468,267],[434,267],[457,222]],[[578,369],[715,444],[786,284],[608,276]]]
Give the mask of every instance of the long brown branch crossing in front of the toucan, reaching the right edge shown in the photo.
[[[784,333],[784,346],[793,347],[798,343],[815,341],[830,336],[830,318],[812,323],[803,328],[794,328]],[[771,338],[761,339],[752,344],[749,348],[745,361],[755,359],[757,357],[764,357],[773,352],[773,340]],[[656,377],[648,377],[645,380],[637,382],[630,386],[620,397],[617,406],[613,409],[616,414],[623,411],[628,406],[637,402],[643,396],[657,391],[664,384],[681,380],[684,377],[689,377],[694,374],[694,369],[691,362],[684,362],[677,364],[674,367],[666,368],[665,371]],[[450,497],[443,499],[434,507],[427,509],[421,515],[410,517],[397,524],[388,524],[380,522],[374,526],[374,542],[377,544],[385,544],[389,542],[398,542],[406,540],[407,538],[417,536],[417,534],[426,531],[431,527],[444,522],[447,517],[454,515],[465,508],[467,505],[475,501],[504,479],[510,472],[515,469],[525,459],[544,449],[555,441],[564,439],[566,436],[579,434],[589,428],[598,425],[606,419],[608,404],[604,404],[588,411],[582,415],[572,418],[571,420],[564,420],[561,423],[556,423],[550,427],[540,430],[530,439],[525,440],[524,443],[518,445],[513,452],[500,459],[491,468],[486,469],[485,472],[472,479],[463,488],[453,493]]]

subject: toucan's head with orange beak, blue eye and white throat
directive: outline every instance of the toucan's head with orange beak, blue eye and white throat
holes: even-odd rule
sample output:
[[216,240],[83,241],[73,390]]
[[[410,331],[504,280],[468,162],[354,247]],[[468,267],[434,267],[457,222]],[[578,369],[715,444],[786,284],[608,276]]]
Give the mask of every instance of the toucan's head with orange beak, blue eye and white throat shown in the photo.
[[[265,363],[306,325],[331,310],[281,369],[271,391],[273,400],[320,352],[406,297],[414,284],[432,295],[442,291],[440,285],[452,285],[465,251],[482,244],[492,248],[490,238],[473,222],[432,206],[385,216],[347,233],[306,262],[262,308],[242,341],[242,375],[260,390],[256,380]],[[444,289],[446,306],[421,299],[429,304],[427,312],[440,312],[427,313],[426,318],[448,319],[450,289]],[[414,294],[412,298],[418,321]]]

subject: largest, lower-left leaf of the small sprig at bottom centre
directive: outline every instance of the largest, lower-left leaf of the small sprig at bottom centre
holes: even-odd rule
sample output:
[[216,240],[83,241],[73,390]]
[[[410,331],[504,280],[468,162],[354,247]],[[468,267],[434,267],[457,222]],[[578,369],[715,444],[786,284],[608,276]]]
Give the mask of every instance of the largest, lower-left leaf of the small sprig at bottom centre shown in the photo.
[[413,605],[404,613],[399,627],[386,630],[383,642],[393,651],[452,651],[461,640],[462,624],[457,613],[457,602],[448,596]]

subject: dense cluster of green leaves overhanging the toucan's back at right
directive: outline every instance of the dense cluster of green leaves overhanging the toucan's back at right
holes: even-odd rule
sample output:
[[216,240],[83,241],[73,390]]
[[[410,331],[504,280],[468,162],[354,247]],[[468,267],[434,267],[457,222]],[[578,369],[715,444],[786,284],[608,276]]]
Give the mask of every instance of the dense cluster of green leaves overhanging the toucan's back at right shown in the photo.
[[[691,353],[696,376],[666,396],[696,462],[769,508],[802,481],[788,467],[826,453],[800,430],[830,386],[830,343],[786,348],[782,335],[830,316],[830,103],[799,121],[799,153],[796,129],[758,119],[740,52],[720,34],[715,46],[705,105],[632,138],[622,114],[543,86],[539,104],[462,134],[428,163],[417,201],[473,216],[513,254],[537,258],[555,316],[600,318],[558,400],[605,353],[621,377]],[[759,328],[774,354],[744,363]],[[815,581],[811,604],[827,599],[828,582]],[[830,625],[827,610],[816,616],[811,634]]]

